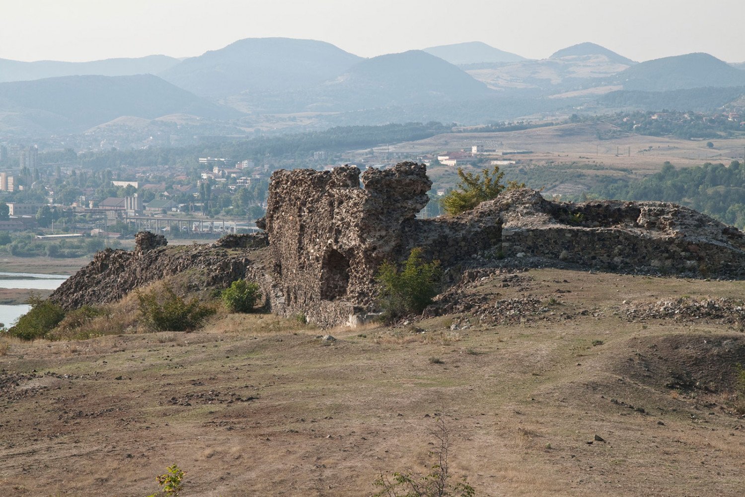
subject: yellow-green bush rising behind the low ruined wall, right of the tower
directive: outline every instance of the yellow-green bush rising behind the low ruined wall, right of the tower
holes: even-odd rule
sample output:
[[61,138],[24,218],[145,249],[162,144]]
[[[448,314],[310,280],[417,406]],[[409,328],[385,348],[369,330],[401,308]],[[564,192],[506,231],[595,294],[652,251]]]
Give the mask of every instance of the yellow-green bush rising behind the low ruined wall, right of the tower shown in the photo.
[[515,181],[508,181],[505,186],[501,183],[504,172],[499,171],[497,165],[492,171],[482,170],[482,174],[464,173],[463,168],[458,168],[458,177],[460,177],[460,183],[457,184],[456,189],[442,200],[443,208],[448,215],[458,215],[471,210],[485,200],[496,198],[504,189],[524,188],[525,186],[524,183]]

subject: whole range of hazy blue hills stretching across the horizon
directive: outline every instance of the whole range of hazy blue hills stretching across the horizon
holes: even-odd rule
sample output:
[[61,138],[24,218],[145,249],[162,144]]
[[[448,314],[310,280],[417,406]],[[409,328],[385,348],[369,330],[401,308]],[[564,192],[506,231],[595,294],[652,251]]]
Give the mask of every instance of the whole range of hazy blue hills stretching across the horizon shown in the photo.
[[[590,42],[542,60],[482,42],[366,59],[315,40],[248,38],[184,60],[0,60],[0,133],[79,132],[121,116],[173,114],[217,122],[247,114],[345,113],[337,121],[361,124],[457,115],[458,122],[478,124],[562,106],[574,112],[584,104],[615,110],[669,103],[688,110],[744,101],[738,96],[743,69],[745,63],[708,54],[635,63]],[[714,87],[728,90],[707,95]],[[224,129],[235,126],[226,122]]]

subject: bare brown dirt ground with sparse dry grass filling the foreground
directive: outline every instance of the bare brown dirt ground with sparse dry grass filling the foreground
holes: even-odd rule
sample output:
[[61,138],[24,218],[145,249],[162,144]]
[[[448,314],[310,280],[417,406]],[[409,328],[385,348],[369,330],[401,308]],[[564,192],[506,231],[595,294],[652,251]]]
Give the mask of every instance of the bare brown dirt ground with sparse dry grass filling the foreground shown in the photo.
[[[629,309],[737,299],[745,282],[484,278],[462,289],[478,309],[336,329],[336,341],[267,314],[13,341],[0,355],[0,495],[144,496],[171,463],[188,473],[183,496],[371,495],[378,472],[431,463],[437,416],[451,470],[477,495],[742,495],[745,420],[723,400],[726,375],[709,374],[732,372],[741,325]],[[721,384],[685,390],[677,370]]]

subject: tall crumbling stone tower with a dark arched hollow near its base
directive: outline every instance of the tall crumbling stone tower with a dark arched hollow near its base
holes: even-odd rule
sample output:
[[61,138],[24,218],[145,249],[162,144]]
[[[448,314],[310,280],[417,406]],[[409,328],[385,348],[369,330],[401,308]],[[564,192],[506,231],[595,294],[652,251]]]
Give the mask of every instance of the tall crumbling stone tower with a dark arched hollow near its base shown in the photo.
[[375,271],[395,259],[402,225],[428,202],[425,165],[402,162],[378,171],[275,171],[265,229],[283,314],[314,323],[341,323],[369,306]]

